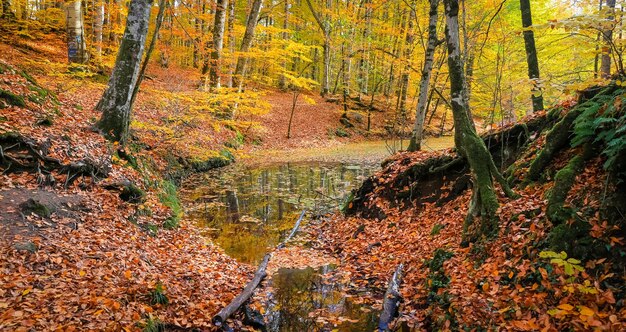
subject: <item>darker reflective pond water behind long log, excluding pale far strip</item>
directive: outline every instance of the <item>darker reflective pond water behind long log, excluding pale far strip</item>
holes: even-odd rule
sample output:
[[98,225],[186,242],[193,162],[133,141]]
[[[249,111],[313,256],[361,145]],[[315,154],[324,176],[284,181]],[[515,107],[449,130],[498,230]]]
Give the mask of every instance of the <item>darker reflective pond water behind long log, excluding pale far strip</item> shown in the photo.
[[187,214],[228,255],[258,263],[286,236],[303,208],[336,209],[375,165],[233,165],[197,175],[183,191]]

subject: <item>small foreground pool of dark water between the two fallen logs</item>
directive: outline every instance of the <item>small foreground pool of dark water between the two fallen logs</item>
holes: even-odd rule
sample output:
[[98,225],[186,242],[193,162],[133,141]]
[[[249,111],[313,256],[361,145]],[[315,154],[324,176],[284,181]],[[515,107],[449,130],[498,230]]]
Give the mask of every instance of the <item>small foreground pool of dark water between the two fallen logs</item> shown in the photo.
[[330,266],[278,270],[266,312],[269,331],[373,331],[378,312],[351,301],[343,285],[326,280]]

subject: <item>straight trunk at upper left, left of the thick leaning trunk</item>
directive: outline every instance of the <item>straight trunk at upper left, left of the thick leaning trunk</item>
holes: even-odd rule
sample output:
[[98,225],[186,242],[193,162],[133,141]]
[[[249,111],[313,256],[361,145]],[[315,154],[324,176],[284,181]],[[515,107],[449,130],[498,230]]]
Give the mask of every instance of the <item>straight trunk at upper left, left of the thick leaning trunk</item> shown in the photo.
[[75,0],[65,7],[67,21],[67,56],[70,62],[87,62],[87,44],[83,22],[82,1]]

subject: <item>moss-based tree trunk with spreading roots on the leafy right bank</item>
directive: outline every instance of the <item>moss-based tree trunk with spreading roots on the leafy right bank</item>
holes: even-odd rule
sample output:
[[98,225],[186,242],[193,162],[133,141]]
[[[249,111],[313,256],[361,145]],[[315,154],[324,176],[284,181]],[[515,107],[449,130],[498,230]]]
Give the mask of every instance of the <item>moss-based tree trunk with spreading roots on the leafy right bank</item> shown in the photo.
[[[465,73],[459,40],[459,1],[444,0],[446,12],[446,42],[450,73],[450,96],[454,118],[454,142],[459,153],[467,159],[473,180],[473,195],[463,226],[463,242],[480,240],[498,233],[498,199],[494,190],[494,177],[507,195],[514,195],[498,171],[482,139],[472,125],[467,109]],[[481,216],[480,225],[474,218]]]

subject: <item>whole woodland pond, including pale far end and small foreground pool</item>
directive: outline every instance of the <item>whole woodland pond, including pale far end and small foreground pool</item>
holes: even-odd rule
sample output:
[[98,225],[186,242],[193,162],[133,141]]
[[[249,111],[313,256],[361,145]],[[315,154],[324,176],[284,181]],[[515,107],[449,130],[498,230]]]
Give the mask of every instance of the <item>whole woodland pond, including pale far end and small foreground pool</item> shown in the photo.
[[[438,150],[452,144],[451,137],[444,137],[424,145]],[[246,163],[188,179],[181,189],[185,212],[226,254],[257,265],[289,234],[303,209],[309,219],[336,211],[352,189],[400,148],[398,142],[376,141],[259,152]],[[334,268],[279,268],[273,273],[265,287],[266,330],[374,330],[379,312],[347,295],[346,280],[333,277]]]

